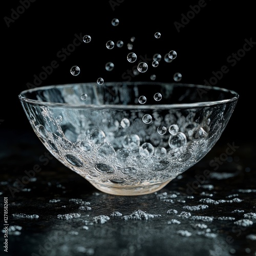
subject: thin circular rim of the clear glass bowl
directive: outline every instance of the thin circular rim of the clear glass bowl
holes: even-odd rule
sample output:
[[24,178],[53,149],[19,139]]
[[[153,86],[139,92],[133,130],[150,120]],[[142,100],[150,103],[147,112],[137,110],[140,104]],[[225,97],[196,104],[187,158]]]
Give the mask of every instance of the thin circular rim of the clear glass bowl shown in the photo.
[[198,108],[198,107],[203,107],[203,106],[212,106],[212,105],[219,105],[219,104],[226,104],[230,103],[233,101],[237,101],[239,98],[239,94],[236,91],[221,88],[221,87],[216,87],[216,86],[207,86],[207,85],[202,85],[202,84],[194,84],[194,83],[179,83],[179,82],[151,82],[151,81],[135,81],[135,82],[105,82],[103,86],[120,86],[120,85],[142,85],[142,84],[157,84],[157,85],[168,85],[172,84],[177,87],[194,87],[198,89],[204,89],[205,91],[209,90],[215,90],[215,91],[220,91],[220,92],[225,92],[225,93],[230,93],[233,95],[233,97],[229,97],[226,99],[222,100],[211,100],[211,101],[202,101],[202,102],[194,102],[194,103],[180,103],[180,104],[147,104],[147,105],[135,105],[135,104],[129,104],[129,105],[123,105],[123,104],[70,104],[70,103],[59,103],[59,102],[47,102],[47,101],[40,101],[40,100],[34,100],[30,99],[28,97],[25,97],[24,95],[27,93],[31,92],[36,92],[40,90],[49,90],[52,88],[63,88],[67,86],[79,86],[82,84],[91,84],[92,86],[97,86],[100,87],[102,86],[97,84],[97,82],[78,82],[78,83],[61,83],[61,84],[51,84],[49,86],[40,86],[40,87],[35,87],[32,89],[27,89],[23,90],[22,92],[19,93],[18,98],[20,101],[24,101],[27,103],[31,104],[36,104],[36,105],[43,105],[43,106],[59,106],[59,107],[65,107],[65,108],[74,108],[74,109],[84,109],[84,108],[92,108],[92,109],[102,109],[102,108],[108,108],[108,109],[191,109],[191,108]]

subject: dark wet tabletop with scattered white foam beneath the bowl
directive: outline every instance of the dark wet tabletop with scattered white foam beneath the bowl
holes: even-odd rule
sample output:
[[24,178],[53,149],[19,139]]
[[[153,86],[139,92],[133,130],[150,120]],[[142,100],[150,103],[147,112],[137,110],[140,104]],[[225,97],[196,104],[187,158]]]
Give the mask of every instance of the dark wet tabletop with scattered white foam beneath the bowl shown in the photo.
[[[6,132],[6,138],[12,135]],[[255,150],[247,144],[234,143],[227,158],[232,143],[217,143],[166,187],[137,197],[101,193],[48,154],[32,133],[16,133],[16,140],[2,139],[1,145],[9,148],[0,161],[2,209],[8,197],[6,255],[255,255]],[[227,159],[217,168],[211,162],[216,157]],[[36,164],[41,170],[29,172]],[[25,170],[34,176],[29,181]],[[188,207],[196,205],[201,209]]]

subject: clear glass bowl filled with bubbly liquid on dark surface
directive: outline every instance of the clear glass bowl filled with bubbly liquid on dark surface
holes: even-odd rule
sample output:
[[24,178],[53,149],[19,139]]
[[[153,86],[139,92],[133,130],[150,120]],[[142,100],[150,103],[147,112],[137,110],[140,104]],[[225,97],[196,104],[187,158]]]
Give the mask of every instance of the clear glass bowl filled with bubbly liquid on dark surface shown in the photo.
[[123,196],[153,193],[201,160],[238,97],[162,82],[59,84],[19,95],[54,157],[97,189]]

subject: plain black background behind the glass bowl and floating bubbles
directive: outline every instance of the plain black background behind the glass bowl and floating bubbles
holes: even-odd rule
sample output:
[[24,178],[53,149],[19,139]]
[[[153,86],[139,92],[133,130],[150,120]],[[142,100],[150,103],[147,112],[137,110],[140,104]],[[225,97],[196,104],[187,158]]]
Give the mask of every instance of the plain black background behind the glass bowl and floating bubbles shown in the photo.
[[[219,143],[246,145],[255,142],[252,122],[255,116],[253,90],[256,47],[247,51],[235,65],[227,60],[243,48],[245,39],[256,41],[252,4],[242,5],[233,1],[227,4],[210,0],[25,2],[26,8],[21,7],[22,1],[8,1],[1,8],[2,141],[12,144],[17,137],[25,138],[27,134],[32,134],[37,140],[18,94],[28,89],[28,83],[33,83],[34,76],[39,76],[43,66],[51,65],[54,60],[58,63],[58,67],[40,82],[40,86],[94,82],[98,77],[103,77],[105,81],[123,81],[124,72],[133,66],[129,65],[131,63],[125,57],[130,52],[126,45],[134,36],[132,51],[138,56],[151,58],[154,53],[160,53],[163,57],[170,50],[178,53],[172,63],[164,63],[162,59],[154,70],[156,81],[173,81],[173,74],[180,72],[183,75],[182,82],[203,84],[205,79],[209,81],[214,76],[212,72],[227,66],[228,72],[223,74],[216,86],[235,90],[240,98]],[[204,7],[193,14],[191,6],[198,6],[199,3],[204,3]],[[15,11],[20,14],[15,14]],[[180,27],[178,32],[174,23],[181,24],[184,16],[189,16],[188,23]],[[120,20],[117,27],[111,25],[113,18]],[[161,33],[159,39],[154,38],[157,31]],[[63,60],[64,57],[60,58],[57,54],[73,43],[75,34],[89,34],[92,41],[75,47]],[[124,46],[108,50],[105,48],[108,40],[123,40]],[[115,63],[112,72],[104,69],[108,61]],[[80,75],[76,77],[69,72],[73,65],[81,69]],[[133,80],[150,80],[152,69],[149,68]]]

